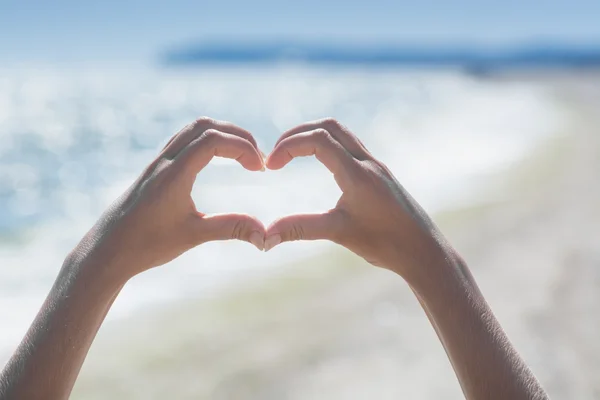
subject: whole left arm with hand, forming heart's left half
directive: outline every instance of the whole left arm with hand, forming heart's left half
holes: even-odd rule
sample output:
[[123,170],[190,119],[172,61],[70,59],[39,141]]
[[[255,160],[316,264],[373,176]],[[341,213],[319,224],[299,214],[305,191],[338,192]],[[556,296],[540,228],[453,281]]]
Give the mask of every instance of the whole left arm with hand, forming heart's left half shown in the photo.
[[207,216],[190,196],[213,156],[263,169],[252,136],[202,118],[173,137],[67,257],[29,332],[0,376],[0,399],[66,399],[111,304],[133,276],[211,240],[263,248],[248,215]]

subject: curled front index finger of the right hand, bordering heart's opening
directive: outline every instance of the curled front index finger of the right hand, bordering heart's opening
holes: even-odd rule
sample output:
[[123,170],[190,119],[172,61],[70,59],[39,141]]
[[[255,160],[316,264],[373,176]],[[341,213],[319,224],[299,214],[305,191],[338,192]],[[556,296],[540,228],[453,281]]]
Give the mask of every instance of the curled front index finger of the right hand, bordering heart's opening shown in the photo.
[[[350,180],[356,159],[324,129],[298,133],[282,140],[267,158],[269,169],[281,169],[295,157],[314,155],[329,169],[340,184]],[[343,190],[343,187],[342,187]]]

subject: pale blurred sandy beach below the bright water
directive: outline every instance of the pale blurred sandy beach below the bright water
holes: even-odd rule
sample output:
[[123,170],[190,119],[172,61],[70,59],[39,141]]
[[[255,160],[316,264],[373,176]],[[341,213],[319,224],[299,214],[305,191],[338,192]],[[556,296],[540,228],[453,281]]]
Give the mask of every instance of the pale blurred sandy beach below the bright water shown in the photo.
[[[546,82],[565,123],[481,201],[435,219],[550,396],[599,398],[600,78],[502,79]],[[106,324],[72,398],[463,396],[403,280],[332,247]]]

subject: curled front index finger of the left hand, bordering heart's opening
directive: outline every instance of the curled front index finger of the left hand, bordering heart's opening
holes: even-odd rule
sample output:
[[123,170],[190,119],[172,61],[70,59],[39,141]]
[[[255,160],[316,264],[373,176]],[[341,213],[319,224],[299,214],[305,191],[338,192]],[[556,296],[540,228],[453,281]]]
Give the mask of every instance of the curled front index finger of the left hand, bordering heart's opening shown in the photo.
[[188,144],[175,158],[174,166],[188,171],[195,179],[215,156],[234,159],[250,171],[263,168],[261,155],[249,141],[214,129]]

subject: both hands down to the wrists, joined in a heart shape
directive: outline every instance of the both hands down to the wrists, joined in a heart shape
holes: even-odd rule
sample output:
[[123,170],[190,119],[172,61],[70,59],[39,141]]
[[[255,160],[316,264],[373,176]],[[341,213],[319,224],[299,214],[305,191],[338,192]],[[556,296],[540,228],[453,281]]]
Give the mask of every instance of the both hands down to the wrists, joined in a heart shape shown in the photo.
[[[198,119],[167,143],[70,257],[93,253],[127,280],[212,240],[239,239],[267,251],[292,240],[331,240],[405,279],[418,274],[428,260],[443,256],[443,239],[429,217],[387,167],[336,120],[299,125],[279,138],[266,160],[261,154],[248,131]],[[196,175],[214,156],[260,171],[310,155],[333,173],[343,193],[325,213],[287,216],[265,228],[245,214],[205,215],[191,198]]]

